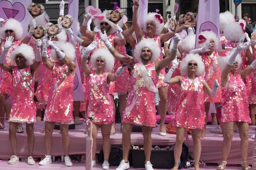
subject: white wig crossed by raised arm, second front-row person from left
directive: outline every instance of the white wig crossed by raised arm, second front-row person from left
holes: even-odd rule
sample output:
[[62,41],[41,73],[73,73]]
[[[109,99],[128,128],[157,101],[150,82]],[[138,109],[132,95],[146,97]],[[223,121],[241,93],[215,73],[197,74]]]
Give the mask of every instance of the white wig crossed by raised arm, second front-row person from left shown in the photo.
[[[63,53],[67,56],[67,58],[70,61],[73,61],[76,57],[76,48],[74,47],[74,45],[72,45],[70,42],[59,42],[56,41],[54,42],[54,44],[63,51]],[[51,57],[52,59],[54,59],[55,61],[58,61],[57,59],[57,54],[55,52],[54,49],[52,49],[51,51]]]

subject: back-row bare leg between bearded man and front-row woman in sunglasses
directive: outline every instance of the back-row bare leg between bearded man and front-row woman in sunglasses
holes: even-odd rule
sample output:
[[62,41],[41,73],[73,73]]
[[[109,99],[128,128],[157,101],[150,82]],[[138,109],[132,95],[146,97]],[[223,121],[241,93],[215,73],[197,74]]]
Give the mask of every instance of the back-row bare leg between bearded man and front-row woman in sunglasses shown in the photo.
[[167,112],[167,91],[168,87],[162,87],[158,88],[159,91],[159,97],[160,97],[160,103],[158,107],[158,111],[160,114],[161,122],[160,122],[160,132],[166,133],[164,122],[166,118],[166,112]]

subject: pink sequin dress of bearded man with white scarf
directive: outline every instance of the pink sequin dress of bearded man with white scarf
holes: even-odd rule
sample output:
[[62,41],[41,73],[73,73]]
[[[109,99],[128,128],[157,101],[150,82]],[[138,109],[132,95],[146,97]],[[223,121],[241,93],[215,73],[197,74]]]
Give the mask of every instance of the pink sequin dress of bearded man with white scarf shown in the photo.
[[[156,109],[154,92],[149,91],[144,85],[144,79],[139,74],[139,64],[134,65],[131,74],[130,89],[127,98],[127,105],[123,112],[123,123],[135,125],[156,126]],[[154,62],[145,65],[148,76],[151,77],[154,85],[157,85],[158,76]]]

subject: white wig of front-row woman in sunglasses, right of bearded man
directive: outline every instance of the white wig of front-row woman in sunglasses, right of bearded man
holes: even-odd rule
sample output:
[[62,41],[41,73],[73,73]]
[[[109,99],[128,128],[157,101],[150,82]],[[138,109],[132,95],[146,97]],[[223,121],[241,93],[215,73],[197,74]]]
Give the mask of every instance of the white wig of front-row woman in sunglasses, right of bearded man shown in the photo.
[[188,64],[192,60],[194,60],[198,64],[195,75],[200,76],[204,73],[204,62],[202,61],[202,57],[199,54],[187,54],[180,63],[181,75],[186,76],[189,74]]

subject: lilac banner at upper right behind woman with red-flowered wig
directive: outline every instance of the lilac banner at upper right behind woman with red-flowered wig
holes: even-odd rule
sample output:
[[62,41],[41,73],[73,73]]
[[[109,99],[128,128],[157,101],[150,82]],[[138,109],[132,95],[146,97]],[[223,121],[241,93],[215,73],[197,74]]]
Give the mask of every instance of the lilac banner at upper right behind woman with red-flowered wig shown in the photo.
[[[199,0],[197,26],[196,26],[196,39],[202,31],[213,31],[220,39],[220,6],[218,0]],[[195,48],[197,43],[195,43]],[[221,43],[219,43],[219,49]]]

